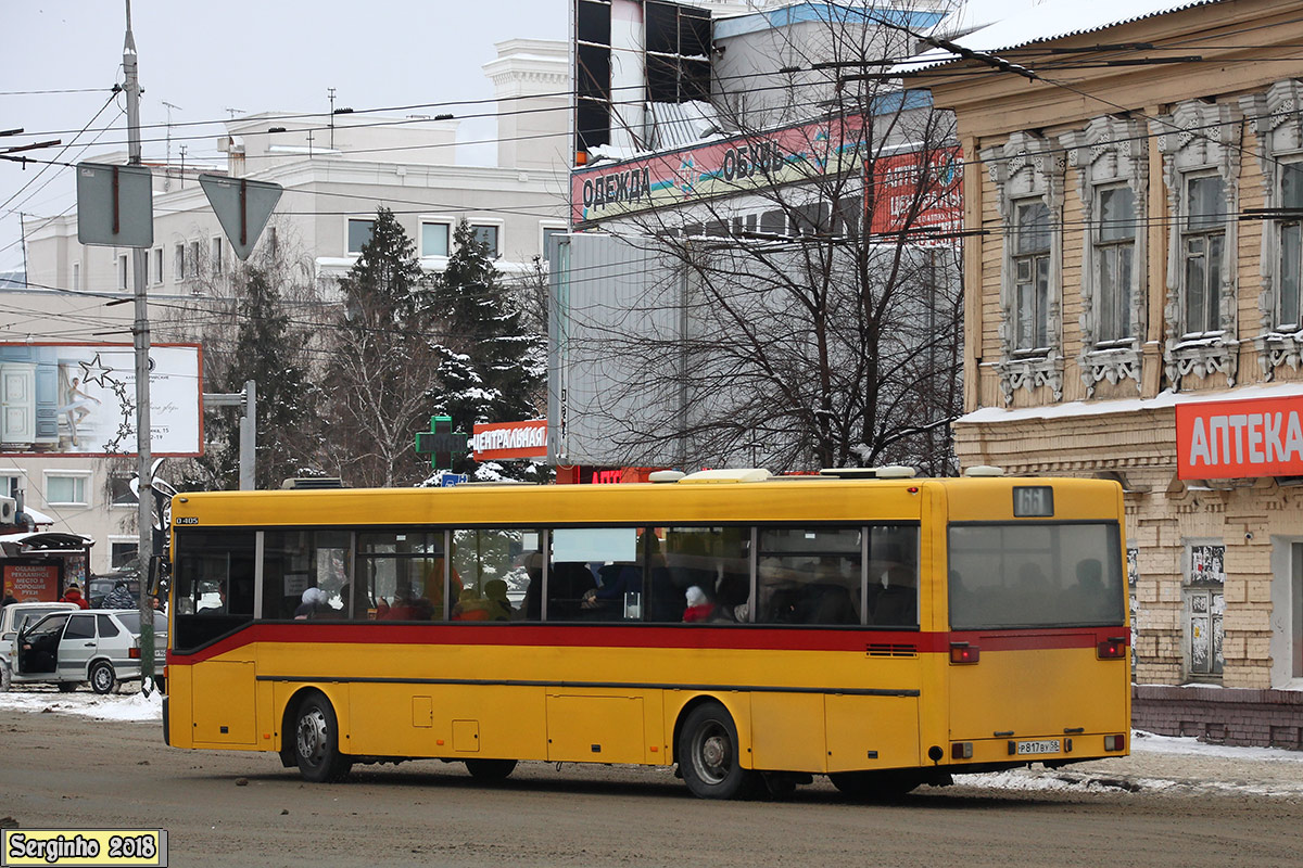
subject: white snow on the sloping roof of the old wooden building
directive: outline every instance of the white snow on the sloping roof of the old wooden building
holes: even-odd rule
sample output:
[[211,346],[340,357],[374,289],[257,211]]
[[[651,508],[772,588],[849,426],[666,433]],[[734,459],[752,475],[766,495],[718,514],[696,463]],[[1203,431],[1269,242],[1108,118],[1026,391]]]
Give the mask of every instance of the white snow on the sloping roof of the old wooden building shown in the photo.
[[[969,3],[937,27],[937,35],[963,33],[951,42],[972,51],[999,52],[1038,42],[1052,42],[1118,25],[1153,18],[1205,7],[1224,0],[1045,0],[1028,7],[1028,0],[989,0]],[[919,70],[939,66],[959,56],[943,48],[933,48],[908,61],[908,69]],[[906,69],[898,68],[898,69]]]

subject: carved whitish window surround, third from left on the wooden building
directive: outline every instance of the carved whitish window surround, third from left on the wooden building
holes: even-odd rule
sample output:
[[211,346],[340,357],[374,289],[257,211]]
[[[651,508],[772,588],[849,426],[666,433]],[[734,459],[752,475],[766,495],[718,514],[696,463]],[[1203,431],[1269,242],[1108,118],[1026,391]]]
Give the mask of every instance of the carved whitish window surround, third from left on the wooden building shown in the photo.
[[[1171,115],[1149,121],[1158,151],[1162,154],[1162,176],[1167,189],[1167,288],[1164,305],[1164,366],[1174,390],[1187,376],[1204,379],[1213,372],[1226,376],[1235,385],[1237,357],[1237,221],[1239,203],[1240,142],[1244,116],[1229,103],[1191,100]],[[1184,328],[1184,260],[1182,225],[1184,216],[1186,177],[1196,172],[1216,172],[1222,178],[1226,197],[1225,245],[1218,275],[1217,334],[1191,337]]]

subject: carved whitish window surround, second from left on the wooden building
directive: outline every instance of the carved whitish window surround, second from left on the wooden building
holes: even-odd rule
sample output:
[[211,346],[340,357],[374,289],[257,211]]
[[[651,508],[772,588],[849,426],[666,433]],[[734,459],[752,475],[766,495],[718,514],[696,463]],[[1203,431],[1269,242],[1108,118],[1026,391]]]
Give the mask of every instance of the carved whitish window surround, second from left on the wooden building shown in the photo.
[[1105,185],[1126,183],[1135,193],[1136,225],[1145,225],[1145,202],[1149,186],[1148,135],[1144,124],[1124,117],[1097,117],[1084,130],[1059,137],[1067,150],[1068,165],[1076,169],[1076,193],[1087,226],[1081,233],[1081,355],[1079,364],[1087,397],[1095,397],[1101,380],[1117,384],[1135,381],[1140,390],[1140,344],[1145,333],[1147,233],[1136,232],[1131,269],[1131,331],[1128,344],[1100,346],[1100,318],[1096,310],[1098,275],[1093,262],[1095,230],[1101,220],[1097,190]]

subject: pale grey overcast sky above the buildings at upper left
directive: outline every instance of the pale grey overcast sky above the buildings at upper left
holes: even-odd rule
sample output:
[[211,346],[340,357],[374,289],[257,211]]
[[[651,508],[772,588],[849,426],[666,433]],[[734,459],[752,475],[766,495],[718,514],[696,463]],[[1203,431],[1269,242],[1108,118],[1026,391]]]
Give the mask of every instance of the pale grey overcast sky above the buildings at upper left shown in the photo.
[[[227,109],[324,112],[328,87],[336,108],[357,111],[483,99],[493,86],[481,66],[496,56],[495,42],[566,39],[567,20],[568,0],[134,0],[141,124],[165,122],[163,103],[180,107],[172,109],[173,124],[220,121],[229,117]],[[0,130],[26,133],[0,138],[0,148],[74,141],[122,81],[125,21],[124,0],[4,4]],[[82,88],[96,92],[25,92]],[[60,146],[31,156],[76,163],[125,150],[120,107],[121,96],[61,155]],[[431,109],[439,111],[448,109]],[[218,160],[219,134],[215,124],[173,128],[173,159],[176,137],[198,135],[185,142],[186,159]],[[493,134],[491,121],[466,121],[461,141]],[[162,142],[145,146],[146,157],[162,159],[163,151]],[[459,151],[461,161],[491,163],[495,155],[491,148]],[[33,182],[42,168],[0,160],[0,271],[22,268],[17,211],[48,217],[73,206],[72,169],[51,167]]]

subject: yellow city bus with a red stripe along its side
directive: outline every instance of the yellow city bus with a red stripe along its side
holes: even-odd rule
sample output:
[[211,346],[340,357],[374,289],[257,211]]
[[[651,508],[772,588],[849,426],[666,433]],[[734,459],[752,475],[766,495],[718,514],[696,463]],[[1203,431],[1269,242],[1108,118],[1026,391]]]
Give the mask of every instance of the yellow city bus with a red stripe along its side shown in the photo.
[[702,798],[1127,753],[1115,483],[766,476],[179,495],[164,738]]

